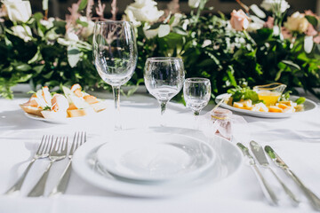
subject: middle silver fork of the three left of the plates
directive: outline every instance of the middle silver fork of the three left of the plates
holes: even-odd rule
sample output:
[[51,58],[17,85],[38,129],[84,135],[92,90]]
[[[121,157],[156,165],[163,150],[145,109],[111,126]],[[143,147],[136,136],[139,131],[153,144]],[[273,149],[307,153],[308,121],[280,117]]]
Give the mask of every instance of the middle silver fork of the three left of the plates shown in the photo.
[[49,154],[49,159],[51,162],[46,168],[46,170],[44,171],[43,176],[40,177],[40,179],[38,180],[36,185],[33,187],[31,192],[28,193],[28,197],[38,197],[38,196],[44,195],[46,179],[49,175],[49,171],[50,171],[50,168],[52,167],[53,162],[60,161],[66,158],[67,156],[68,138],[65,138],[65,137],[57,138],[53,148],[52,146],[50,148],[51,148],[51,152]]

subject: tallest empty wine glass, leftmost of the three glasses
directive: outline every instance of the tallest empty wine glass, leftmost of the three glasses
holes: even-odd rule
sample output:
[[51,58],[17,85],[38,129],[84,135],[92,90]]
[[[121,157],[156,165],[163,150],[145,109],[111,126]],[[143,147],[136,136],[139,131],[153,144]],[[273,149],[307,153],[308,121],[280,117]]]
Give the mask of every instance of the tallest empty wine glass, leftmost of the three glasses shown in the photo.
[[94,65],[103,81],[112,86],[115,99],[115,129],[121,130],[120,86],[132,77],[138,50],[132,22],[98,21],[93,32]]

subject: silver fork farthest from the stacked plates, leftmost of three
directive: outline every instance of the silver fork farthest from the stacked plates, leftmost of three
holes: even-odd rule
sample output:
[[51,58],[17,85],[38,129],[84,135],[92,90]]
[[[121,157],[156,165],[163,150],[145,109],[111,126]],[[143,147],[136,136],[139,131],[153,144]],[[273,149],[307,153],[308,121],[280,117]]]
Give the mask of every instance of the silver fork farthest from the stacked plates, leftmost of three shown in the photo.
[[36,162],[36,160],[38,159],[46,158],[49,156],[50,141],[51,143],[53,142],[53,136],[43,136],[43,138],[41,139],[41,143],[36,151],[36,154],[34,155],[31,162],[29,162],[27,169],[23,172],[22,176],[17,180],[17,182],[14,185],[12,185],[12,187],[8,189],[8,191],[5,194],[20,193],[21,186],[25,178],[27,177],[28,171],[30,170],[33,163]]

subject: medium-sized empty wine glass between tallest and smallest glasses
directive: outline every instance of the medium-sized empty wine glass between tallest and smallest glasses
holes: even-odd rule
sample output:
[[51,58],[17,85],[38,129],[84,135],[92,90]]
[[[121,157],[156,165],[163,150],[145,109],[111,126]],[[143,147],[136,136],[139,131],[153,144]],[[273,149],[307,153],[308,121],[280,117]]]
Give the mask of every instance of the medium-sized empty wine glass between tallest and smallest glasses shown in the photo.
[[148,58],[144,68],[147,90],[161,106],[161,125],[164,125],[166,104],[182,89],[184,81],[182,59],[173,57]]

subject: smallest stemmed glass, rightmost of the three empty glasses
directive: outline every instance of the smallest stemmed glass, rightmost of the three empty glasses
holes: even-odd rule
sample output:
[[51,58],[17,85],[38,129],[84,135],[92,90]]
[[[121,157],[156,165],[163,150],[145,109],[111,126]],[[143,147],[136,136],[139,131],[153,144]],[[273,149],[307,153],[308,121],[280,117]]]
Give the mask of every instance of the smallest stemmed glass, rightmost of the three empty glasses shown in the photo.
[[[211,97],[211,83],[206,78],[187,78],[183,86],[183,97],[195,115],[195,122],[201,110]],[[197,126],[197,124],[196,124]]]

